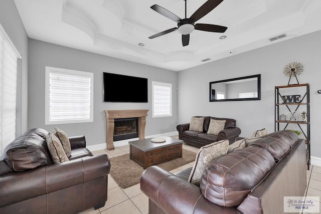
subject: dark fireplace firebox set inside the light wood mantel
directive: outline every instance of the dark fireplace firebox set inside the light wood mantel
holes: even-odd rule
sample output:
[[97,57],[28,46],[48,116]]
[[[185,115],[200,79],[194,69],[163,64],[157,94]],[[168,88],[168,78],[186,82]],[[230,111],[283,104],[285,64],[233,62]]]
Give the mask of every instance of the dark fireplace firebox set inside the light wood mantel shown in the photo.
[[114,141],[138,137],[138,118],[114,120]]

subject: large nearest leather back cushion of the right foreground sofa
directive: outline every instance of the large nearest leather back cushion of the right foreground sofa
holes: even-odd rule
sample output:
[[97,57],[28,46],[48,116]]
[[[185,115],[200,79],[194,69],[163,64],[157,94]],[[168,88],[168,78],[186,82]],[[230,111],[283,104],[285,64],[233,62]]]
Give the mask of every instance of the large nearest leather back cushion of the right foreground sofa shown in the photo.
[[220,206],[237,206],[274,167],[263,148],[247,147],[213,160],[200,181],[206,199]]

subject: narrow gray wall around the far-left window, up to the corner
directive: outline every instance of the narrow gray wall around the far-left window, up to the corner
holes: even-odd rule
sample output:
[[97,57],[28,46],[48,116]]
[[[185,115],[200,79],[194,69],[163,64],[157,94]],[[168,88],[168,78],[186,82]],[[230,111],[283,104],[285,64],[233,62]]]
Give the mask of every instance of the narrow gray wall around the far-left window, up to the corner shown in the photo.
[[18,62],[16,136],[27,130],[28,107],[28,36],[15,2],[0,1],[0,23],[22,55]]

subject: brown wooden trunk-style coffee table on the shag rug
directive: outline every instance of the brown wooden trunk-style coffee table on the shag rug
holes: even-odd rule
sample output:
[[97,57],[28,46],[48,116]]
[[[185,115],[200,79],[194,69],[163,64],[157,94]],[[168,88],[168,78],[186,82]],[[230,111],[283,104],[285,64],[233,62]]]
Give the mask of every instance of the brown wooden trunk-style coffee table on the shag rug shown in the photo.
[[[158,138],[158,137],[157,137]],[[164,143],[153,143],[152,138],[129,141],[130,159],[136,161],[144,169],[148,166],[164,163],[183,155],[183,140],[162,136]]]

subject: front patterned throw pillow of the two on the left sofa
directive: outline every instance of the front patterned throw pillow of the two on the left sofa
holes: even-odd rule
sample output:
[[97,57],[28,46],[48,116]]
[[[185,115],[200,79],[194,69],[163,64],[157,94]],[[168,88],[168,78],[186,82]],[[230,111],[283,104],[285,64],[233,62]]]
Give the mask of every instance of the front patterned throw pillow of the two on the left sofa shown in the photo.
[[49,133],[46,137],[51,159],[54,163],[62,163],[69,161],[60,140],[53,133]]

